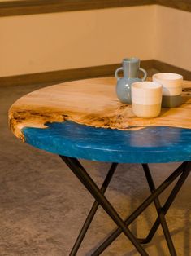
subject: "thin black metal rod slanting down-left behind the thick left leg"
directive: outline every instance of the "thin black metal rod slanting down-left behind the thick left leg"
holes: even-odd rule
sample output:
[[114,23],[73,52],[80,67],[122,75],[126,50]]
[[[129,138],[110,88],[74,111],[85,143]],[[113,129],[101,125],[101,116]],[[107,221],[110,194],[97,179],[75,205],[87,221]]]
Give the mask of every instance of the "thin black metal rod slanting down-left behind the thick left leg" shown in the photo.
[[[110,170],[106,174],[106,179],[102,183],[102,188],[100,189],[103,194],[106,192],[106,188],[108,187],[109,183],[111,182],[111,179],[113,177],[113,174],[115,173],[117,166],[118,166],[117,163],[112,163]],[[84,240],[84,237],[89,228],[89,225],[92,223],[93,217],[98,210],[98,206],[99,206],[98,201],[94,201],[93,206],[92,206],[91,210],[89,211],[87,218],[85,219],[85,223],[84,223],[83,227],[81,228],[80,233],[76,239],[76,242],[72,247],[70,256],[76,255],[76,253],[80,247],[80,244]]]

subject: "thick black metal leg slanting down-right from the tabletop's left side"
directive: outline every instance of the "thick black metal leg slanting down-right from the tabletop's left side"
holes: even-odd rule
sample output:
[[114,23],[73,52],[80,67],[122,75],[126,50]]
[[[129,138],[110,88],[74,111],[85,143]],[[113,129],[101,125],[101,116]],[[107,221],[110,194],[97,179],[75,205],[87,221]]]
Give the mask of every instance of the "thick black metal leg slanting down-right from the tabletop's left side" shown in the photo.
[[85,188],[89,190],[89,192],[93,195],[96,201],[102,208],[106,211],[106,213],[113,219],[113,221],[117,224],[119,229],[124,232],[124,235],[128,237],[129,241],[136,247],[137,251],[142,256],[149,256],[146,253],[145,249],[141,246],[137,238],[132,235],[132,232],[126,227],[122,218],[120,218],[119,214],[115,211],[111,203],[106,199],[106,196],[102,194],[96,183],[93,182],[93,179],[89,176],[89,174],[85,171],[84,168],[78,166],[78,162],[73,157],[64,157],[60,156],[63,161],[67,164],[67,166],[72,170],[76,177],[80,179],[80,182],[84,184]]

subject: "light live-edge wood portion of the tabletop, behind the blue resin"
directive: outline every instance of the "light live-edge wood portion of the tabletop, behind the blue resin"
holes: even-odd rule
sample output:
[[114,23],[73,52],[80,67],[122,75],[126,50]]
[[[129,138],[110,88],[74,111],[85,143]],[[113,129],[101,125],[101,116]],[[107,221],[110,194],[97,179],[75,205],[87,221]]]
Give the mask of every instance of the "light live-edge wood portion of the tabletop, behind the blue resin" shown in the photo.
[[118,130],[146,126],[191,128],[191,82],[184,81],[183,104],[163,108],[159,117],[142,119],[131,105],[119,102],[114,77],[65,82],[33,91],[18,99],[9,110],[12,132],[24,140],[24,127],[46,128],[47,123],[73,121],[78,124]]

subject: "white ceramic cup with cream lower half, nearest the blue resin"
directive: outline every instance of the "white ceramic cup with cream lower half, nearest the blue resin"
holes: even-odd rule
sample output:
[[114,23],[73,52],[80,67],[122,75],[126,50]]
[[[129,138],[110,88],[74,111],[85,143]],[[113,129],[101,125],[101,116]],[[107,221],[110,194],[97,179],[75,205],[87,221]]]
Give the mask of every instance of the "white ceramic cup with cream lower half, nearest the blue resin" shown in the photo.
[[137,117],[157,117],[161,111],[162,85],[157,82],[132,84],[132,112]]

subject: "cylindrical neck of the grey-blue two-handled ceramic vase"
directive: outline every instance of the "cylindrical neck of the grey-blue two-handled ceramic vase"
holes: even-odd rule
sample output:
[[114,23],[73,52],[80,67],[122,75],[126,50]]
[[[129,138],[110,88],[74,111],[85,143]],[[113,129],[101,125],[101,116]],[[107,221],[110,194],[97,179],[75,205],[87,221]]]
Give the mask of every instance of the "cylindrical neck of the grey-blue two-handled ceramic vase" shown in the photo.
[[128,77],[128,78],[138,77],[139,68],[140,68],[140,59],[125,58],[123,60],[124,77]]

